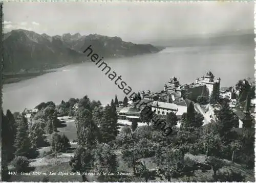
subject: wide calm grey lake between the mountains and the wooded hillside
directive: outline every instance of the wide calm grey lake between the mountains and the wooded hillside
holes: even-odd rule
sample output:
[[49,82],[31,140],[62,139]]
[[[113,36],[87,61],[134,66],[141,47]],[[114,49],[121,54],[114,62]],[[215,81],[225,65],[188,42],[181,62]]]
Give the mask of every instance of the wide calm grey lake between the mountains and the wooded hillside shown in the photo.
[[[104,60],[133,91],[164,89],[170,77],[181,84],[195,82],[207,71],[221,78],[221,87],[254,77],[254,47],[247,45],[167,47],[157,54]],[[40,102],[89,98],[109,103],[125,94],[93,62],[69,65],[33,79],[3,86],[3,108],[12,112],[34,108]],[[132,93],[132,92],[131,92]]]

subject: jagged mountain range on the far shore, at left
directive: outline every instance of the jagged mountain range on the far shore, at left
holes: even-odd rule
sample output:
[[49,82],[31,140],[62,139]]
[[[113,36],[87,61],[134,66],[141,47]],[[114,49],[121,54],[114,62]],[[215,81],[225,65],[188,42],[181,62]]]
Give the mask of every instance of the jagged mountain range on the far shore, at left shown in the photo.
[[161,49],[151,44],[124,42],[119,37],[82,36],[79,33],[62,36],[13,30],[4,34],[4,72],[43,70],[81,63],[88,60],[82,53],[92,44],[95,53],[104,58],[157,53]]

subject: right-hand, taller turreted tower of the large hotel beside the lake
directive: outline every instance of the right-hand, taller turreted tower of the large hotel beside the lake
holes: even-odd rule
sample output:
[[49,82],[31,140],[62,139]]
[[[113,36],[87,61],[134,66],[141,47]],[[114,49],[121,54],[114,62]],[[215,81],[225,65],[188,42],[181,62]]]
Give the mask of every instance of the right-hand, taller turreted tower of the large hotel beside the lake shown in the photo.
[[198,80],[198,83],[206,85],[206,88],[209,91],[209,97],[211,96],[212,93],[219,96],[221,79],[218,78],[217,80],[214,80],[214,77],[214,74],[212,74],[211,71],[209,71],[206,73],[206,75],[202,76],[201,79]]

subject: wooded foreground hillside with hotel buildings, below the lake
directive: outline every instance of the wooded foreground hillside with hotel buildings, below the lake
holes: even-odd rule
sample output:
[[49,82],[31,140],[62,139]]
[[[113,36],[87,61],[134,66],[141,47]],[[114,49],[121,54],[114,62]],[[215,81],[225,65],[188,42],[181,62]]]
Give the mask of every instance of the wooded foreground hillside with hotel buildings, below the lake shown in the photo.
[[[8,136],[13,143],[6,142],[3,147],[9,152],[6,154],[8,168],[16,172],[8,171],[9,178],[12,181],[61,181],[51,179],[46,170],[58,167],[58,171],[64,172],[63,165],[67,172],[104,170],[129,174],[93,177],[82,174],[83,181],[170,181],[171,178],[254,181],[255,84],[244,79],[236,86],[220,86],[221,79],[208,71],[194,83],[184,85],[173,76],[162,91],[141,91],[131,100],[125,97],[120,101],[115,96],[107,106],[91,101],[86,95],[59,105],[41,102],[20,114],[8,110],[4,124],[9,122],[11,126],[3,125],[3,136]],[[165,137],[162,126],[154,124],[145,114],[146,108],[164,120],[173,132]],[[27,133],[26,137],[19,130]],[[20,144],[25,147],[19,147]],[[77,162],[86,149],[90,149],[88,155],[95,157],[92,159],[95,162],[89,161],[89,167],[87,159],[83,160],[84,165]],[[106,153],[104,157],[100,155],[102,152]],[[106,160],[116,164],[100,163]],[[78,168],[78,165],[85,167]],[[172,167],[177,168],[175,173],[168,173]],[[25,169],[27,172],[45,170],[45,173],[31,179]],[[79,181],[77,175],[69,176],[70,181]]]

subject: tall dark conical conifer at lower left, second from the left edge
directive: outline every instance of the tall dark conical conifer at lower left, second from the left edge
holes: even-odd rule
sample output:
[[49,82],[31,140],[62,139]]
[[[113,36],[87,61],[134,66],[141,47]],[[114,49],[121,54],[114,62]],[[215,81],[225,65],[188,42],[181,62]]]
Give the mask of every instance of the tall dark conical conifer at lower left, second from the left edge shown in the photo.
[[27,119],[19,115],[16,119],[17,134],[15,138],[15,156],[29,156],[30,140],[28,138],[28,122]]

